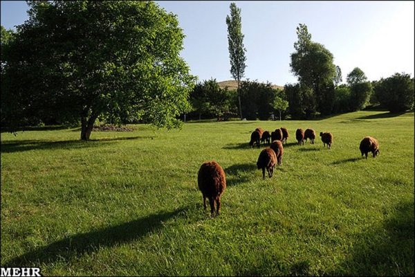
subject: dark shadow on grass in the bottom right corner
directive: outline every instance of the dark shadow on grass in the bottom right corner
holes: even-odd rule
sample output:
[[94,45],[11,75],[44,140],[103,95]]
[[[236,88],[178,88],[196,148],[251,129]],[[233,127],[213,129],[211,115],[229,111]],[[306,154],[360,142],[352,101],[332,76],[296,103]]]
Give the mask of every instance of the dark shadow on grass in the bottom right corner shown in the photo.
[[357,236],[348,260],[329,276],[414,276],[414,199],[400,202],[377,228]]

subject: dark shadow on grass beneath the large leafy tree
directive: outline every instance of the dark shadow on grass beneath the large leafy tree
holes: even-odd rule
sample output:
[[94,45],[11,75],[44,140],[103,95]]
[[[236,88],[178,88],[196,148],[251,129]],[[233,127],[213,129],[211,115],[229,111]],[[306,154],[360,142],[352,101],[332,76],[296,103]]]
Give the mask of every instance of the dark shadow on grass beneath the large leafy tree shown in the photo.
[[151,136],[130,136],[130,137],[118,137],[110,139],[91,139],[89,141],[36,141],[36,140],[24,140],[24,141],[2,141],[1,153],[13,153],[24,152],[29,150],[57,150],[66,148],[91,148],[108,143],[108,141],[124,141],[130,139],[149,139]]

